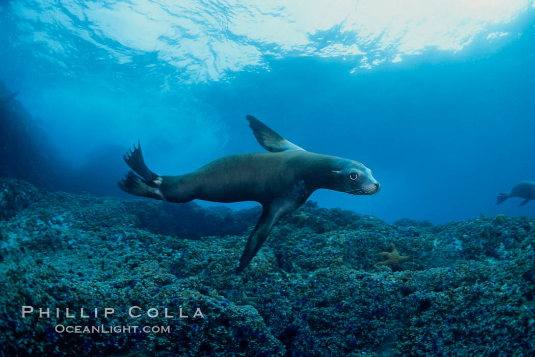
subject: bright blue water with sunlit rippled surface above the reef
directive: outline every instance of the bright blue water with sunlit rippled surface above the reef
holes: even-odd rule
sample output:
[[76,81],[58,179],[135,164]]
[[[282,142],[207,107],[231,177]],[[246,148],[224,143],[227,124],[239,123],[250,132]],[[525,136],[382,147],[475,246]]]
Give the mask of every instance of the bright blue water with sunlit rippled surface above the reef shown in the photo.
[[[535,180],[535,3],[425,4],[3,2],[0,79],[73,168],[137,139],[160,174],[262,151],[250,114],[381,183],[372,197],[320,190],[320,207],[534,216],[495,196]],[[93,171],[121,195],[127,167],[108,159]]]

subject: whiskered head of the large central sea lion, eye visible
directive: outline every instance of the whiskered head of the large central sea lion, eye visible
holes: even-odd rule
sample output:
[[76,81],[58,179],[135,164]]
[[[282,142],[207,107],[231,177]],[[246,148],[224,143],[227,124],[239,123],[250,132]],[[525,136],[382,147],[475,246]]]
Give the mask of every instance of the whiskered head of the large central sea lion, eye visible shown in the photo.
[[340,160],[335,163],[332,173],[335,175],[331,189],[352,195],[373,195],[381,185],[373,178],[371,170],[360,162]]

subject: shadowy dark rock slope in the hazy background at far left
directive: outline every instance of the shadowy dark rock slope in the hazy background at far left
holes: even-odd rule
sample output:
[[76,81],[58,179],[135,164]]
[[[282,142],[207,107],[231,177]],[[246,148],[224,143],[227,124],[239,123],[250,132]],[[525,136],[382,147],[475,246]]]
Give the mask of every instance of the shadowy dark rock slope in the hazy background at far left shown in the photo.
[[17,100],[17,94],[0,81],[0,177],[19,178],[52,190],[123,195],[109,176],[123,176],[124,147],[98,147],[80,160],[79,166],[71,167]]

